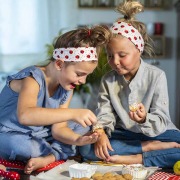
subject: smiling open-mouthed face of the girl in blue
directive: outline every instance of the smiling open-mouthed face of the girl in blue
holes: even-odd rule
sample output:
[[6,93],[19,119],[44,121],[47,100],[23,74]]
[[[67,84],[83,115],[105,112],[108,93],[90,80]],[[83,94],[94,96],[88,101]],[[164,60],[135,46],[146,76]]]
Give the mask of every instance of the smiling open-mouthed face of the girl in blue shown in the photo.
[[66,90],[85,84],[86,78],[97,66],[97,62],[63,63],[58,76],[59,84]]

